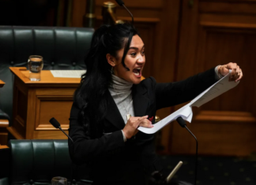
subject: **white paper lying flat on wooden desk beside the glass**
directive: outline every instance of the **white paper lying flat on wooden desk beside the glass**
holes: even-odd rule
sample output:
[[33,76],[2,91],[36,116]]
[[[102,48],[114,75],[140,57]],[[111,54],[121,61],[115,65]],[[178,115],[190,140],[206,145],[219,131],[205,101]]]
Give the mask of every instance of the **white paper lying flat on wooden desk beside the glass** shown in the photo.
[[58,78],[81,78],[86,70],[51,70],[51,74]]

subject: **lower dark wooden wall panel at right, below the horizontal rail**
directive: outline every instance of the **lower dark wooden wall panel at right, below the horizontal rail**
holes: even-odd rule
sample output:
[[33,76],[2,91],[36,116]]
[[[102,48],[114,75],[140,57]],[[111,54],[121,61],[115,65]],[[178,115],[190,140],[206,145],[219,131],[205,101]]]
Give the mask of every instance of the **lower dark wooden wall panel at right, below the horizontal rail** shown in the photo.
[[[195,141],[192,135],[179,124],[173,126],[175,145],[171,148],[172,152],[195,154]],[[198,139],[198,154],[248,156],[255,151],[255,123],[192,121],[188,128]]]

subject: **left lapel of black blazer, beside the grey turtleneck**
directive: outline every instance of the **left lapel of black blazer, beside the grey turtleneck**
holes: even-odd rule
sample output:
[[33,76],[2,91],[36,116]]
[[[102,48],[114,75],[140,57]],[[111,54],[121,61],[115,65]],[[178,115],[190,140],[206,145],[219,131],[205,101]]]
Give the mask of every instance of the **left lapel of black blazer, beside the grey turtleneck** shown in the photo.
[[107,108],[107,117],[106,119],[114,124],[116,128],[122,130],[124,128],[125,123],[122,119],[122,116],[119,112],[117,105],[115,104],[114,99],[112,98],[110,92],[107,90],[107,100],[108,100],[108,108]]

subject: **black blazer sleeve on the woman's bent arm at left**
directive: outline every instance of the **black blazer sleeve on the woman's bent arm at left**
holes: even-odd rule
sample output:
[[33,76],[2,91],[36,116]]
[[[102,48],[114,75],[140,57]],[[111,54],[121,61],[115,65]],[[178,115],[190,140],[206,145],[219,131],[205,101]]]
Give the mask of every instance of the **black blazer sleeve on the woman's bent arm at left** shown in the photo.
[[115,131],[110,135],[103,135],[98,139],[91,139],[85,134],[85,129],[78,123],[79,109],[73,103],[70,113],[69,135],[73,143],[69,142],[70,157],[77,165],[92,161],[100,156],[107,156],[120,150],[125,143],[122,131]]

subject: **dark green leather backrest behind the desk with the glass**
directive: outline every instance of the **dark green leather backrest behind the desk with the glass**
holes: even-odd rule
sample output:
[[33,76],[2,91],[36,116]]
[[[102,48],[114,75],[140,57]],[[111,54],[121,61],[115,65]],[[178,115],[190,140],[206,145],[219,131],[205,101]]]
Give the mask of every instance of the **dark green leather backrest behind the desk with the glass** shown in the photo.
[[30,55],[43,56],[43,69],[85,69],[92,28],[0,26],[0,109],[12,117],[13,75],[9,67],[27,67]]

